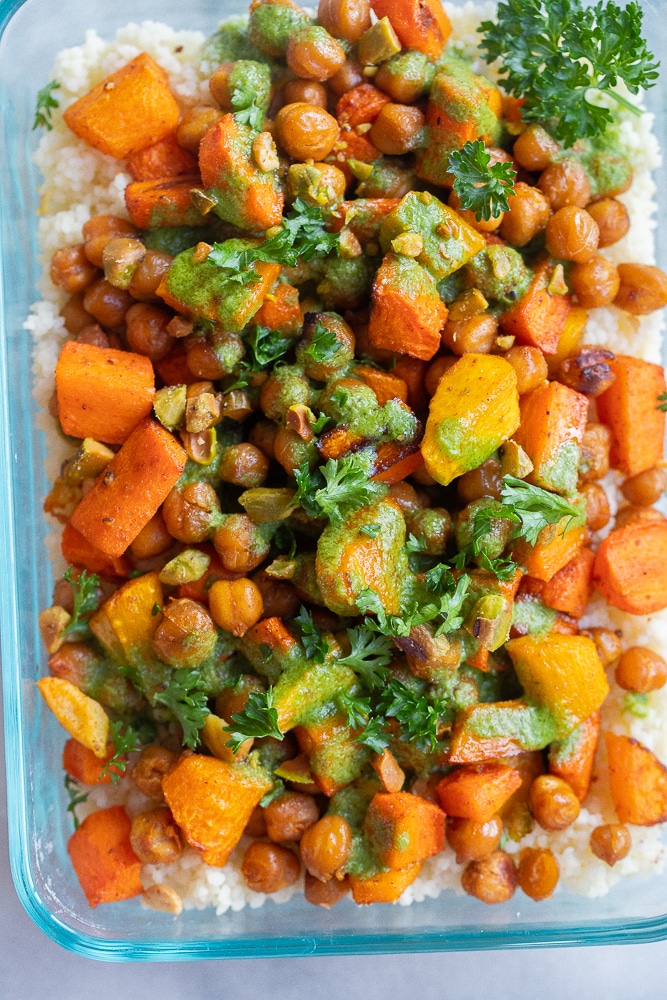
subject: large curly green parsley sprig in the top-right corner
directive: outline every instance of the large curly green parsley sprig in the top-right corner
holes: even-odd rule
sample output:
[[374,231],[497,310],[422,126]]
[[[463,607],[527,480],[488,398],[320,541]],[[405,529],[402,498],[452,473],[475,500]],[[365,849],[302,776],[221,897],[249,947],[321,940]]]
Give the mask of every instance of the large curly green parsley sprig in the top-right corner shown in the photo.
[[503,0],[496,21],[484,21],[480,48],[487,62],[500,60],[503,85],[525,99],[524,121],[548,123],[555,138],[571,146],[601,135],[613,117],[589,100],[609,94],[622,107],[638,109],[613,89],[622,80],[630,93],[652,87],[658,63],[642,38],[642,10],[629,3],[582,0]]

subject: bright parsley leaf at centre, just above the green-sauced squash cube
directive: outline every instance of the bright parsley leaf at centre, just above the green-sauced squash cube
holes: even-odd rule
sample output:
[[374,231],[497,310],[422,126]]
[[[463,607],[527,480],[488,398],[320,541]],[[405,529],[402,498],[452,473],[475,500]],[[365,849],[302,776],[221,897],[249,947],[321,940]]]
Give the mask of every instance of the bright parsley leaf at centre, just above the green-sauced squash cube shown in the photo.
[[309,517],[328,517],[332,524],[343,521],[359,507],[384,496],[387,487],[369,478],[368,464],[359,455],[330,458],[326,465],[310,472],[304,461],[295,470],[295,503]]

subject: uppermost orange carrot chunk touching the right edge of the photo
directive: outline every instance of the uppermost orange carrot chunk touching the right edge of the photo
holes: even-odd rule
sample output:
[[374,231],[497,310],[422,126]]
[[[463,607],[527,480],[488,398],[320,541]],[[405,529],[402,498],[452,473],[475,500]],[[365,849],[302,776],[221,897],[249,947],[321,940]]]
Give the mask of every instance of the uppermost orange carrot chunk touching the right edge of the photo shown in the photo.
[[598,418],[611,431],[612,468],[636,476],[662,459],[667,415],[658,409],[658,396],[665,392],[665,373],[622,354],[609,367],[616,378],[596,400]]

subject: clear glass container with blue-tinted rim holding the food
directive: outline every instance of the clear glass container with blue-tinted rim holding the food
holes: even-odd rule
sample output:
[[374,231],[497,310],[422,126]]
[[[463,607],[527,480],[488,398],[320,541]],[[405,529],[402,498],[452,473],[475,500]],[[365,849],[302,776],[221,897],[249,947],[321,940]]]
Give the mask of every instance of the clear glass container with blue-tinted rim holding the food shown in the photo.
[[[221,19],[243,13],[245,0],[2,0],[0,2],[0,592],[7,747],[9,847],[16,889],[35,923],[59,944],[88,957],[180,960],[312,954],[446,951],[546,945],[611,944],[667,936],[667,871],[629,878],[608,895],[588,899],[559,891],[535,903],[521,892],[501,906],[445,891],[412,906],[358,907],[344,900],[331,911],[294,896],[218,917],[213,908],[180,917],[145,909],[136,900],[90,909],[66,845],[72,832],[62,790],[63,730],[35,681],[46,654],[38,613],[51,602],[42,502],[46,442],[35,428],[31,338],[23,329],[38,298],[36,224],[40,181],[31,130],[37,89],[55,53],[83,41],[87,28],[104,37],[130,21],[163,21],[211,33]],[[645,37],[660,54],[667,25],[659,3],[644,2]],[[667,148],[667,74],[648,95],[655,129]],[[665,178],[658,183],[667,212]],[[658,259],[667,261],[664,226]]]

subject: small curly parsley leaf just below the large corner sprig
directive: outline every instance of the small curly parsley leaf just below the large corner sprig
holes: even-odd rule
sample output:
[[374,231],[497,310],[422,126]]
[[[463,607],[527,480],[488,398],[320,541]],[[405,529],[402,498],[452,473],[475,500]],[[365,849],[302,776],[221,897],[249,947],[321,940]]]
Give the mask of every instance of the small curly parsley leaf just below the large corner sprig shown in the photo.
[[454,174],[454,190],[461,208],[470,209],[476,218],[497,219],[509,210],[509,195],[514,193],[516,171],[510,163],[491,164],[491,156],[481,139],[466,142],[461,150],[449,155],[449,169]]

